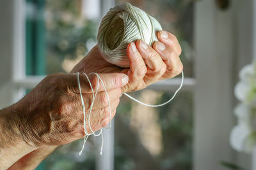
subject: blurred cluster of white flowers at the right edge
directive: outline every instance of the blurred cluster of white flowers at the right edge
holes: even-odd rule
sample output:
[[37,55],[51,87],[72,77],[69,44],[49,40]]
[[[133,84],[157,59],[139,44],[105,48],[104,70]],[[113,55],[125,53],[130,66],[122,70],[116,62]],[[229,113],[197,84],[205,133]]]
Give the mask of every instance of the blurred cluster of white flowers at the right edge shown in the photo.
[[234,113],[238,124],[230,133],[230,144],[237,151],[251,152],[256,145],[256,62],[239,73],[234,93],[241,102]]

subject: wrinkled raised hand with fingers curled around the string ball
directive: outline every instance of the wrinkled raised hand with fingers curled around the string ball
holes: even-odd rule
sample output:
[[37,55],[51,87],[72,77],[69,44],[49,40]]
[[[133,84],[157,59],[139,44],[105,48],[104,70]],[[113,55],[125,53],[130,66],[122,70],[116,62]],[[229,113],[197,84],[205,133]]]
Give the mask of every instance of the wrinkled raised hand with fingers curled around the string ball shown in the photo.
[[181,48],[177,38],[166,31],[157,32],[159,41],[152,47],[142,40],[127,46],[130,68],[122,68],[106,62],[97,46],[72,69],[72,73],[115,73],[129,76],[129,83],[122,87],[122,92],[141,90],[159,80],[173,78],[181,73],[183,66],[179,59]]

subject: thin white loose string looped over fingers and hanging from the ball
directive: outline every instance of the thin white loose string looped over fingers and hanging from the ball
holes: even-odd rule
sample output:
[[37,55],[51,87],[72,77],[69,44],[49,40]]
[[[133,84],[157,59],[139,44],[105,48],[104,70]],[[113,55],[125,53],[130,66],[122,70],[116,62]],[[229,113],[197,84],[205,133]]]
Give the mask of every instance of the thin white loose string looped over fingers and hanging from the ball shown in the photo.
[[[184,82],[184,73],[183,71],[181,72],[182,73],[182,79],[181,79],[181,83],[180,83],[180,86],[179,88],[175,91],[175,93],[173,94],[172,98],[168,101],[166,101],[165,103],[162,103],[162,104],[156,104],[156,105],[152,105],[152,104],[146,104],[146,103],[142,103],[141,101],[138,101],[138,99],[135,99],[134,97],[130,96],[129,94],[125,94],[125,96],[129,97],[130,99],[132,99],[133,101],[136,101],[140,104],[143,104],[144,106],[148,106],[148,107],[160,107],[160,106],[164,106],[165,104],[168,104],[170,103],[170,101],[173,100],[173,98],[176,96],[177,92],[179,92],[179,90],[181,89],[182,85],[183,85],[183,82]],[[110,100],[109,100],[109,96],[108,96],[108,92],[106,90],[106,87],[104,85],[104,82],[102,81],[102,79],[100,78],[99,74],[98,73],[90,73],[90,74],[95,74],[97,76],[97,88],[96,88],[96,91],[95,93],[93,92],[93,88],[92,88],[92,83],[90,81],[90,79],[88,78],[87,74],[83,73],[84,76],[86,76],[87,80],[88,80],[88,83],[90,84],[90,87],[92,89],[92,96],[93,96],[93,100],[92,100],[92,104],[90,105],[89,107],[89,111],[87,112],[87,116],[85,115],[85,106],[84,106],[84,100],[83,100],[83,94],[82,94],[82,90],[81,90],[81,84],[80,84],[80,80],[79,80],[79,72],[77,72],[77,85],[78,85],[78,89],[79,89],[79,93],[80,93],[80,97],[81,97],[81,103],[82,103],[82,106],[83,106],[83,115],[84,115],[84,133],[85,133],[85,136],[84,136],[84,141],[83,141],[83,146],[82,146],[82,149],[81,151],[79,152],[79,155],[81,155],[83,153],[83,150],[84,150],[84,146],[85,146],[85,143],[88,139],[88,137],[90,135],[93,135],[93,136],[100,136],[101,135],[101,138],[102,138],[102,143],[101,143],[101,147],[100,147],[100,155],[102,155],[102,150],[103,150],[103,145],[104,145],[104,138],[103,138],[103,134],[102,134],[102,128],[100,129],[100,132],[99,134],[95,134],[95,132],[92,130],[92,127],[91,127],[91,124],[90,124],[90,117],[91,117],[91,114],[92,114],[92,108],[93,108],[93,103],[95,101],[95,97],[97,96],[97,92],[99,90],[99,81],[102,83],[102,87],[104,89],[104,91],[106,92],[106,96],[108,98],[108,106],[109,106],[109,127],[104,127],[106,129],[110,129],[111,128],[111,106],[110,106]],[[92,133],[88,133],[87,130],[86,130],[86,124],[87,124],[87,120],[88,120],[88,125],[89,125],[89,128],[90,130],[92,131]]]

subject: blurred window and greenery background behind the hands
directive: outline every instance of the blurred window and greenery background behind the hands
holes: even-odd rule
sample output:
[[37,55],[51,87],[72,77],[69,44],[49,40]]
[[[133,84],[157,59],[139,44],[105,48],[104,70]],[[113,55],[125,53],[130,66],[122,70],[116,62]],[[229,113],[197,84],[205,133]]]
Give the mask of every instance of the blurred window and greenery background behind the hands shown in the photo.
[[[91,136],[83,155],[81,139],[60,146],[37,169],[256,169],[256,154],[235,152],[229,142],[238,73],[256,56],[253,0],[1,0],[0,108],[45,75],[68,73],[97,44],[101,18],[124,2],[177,36],[184,87],[161,108],[123,96],[114,126],[104,131],[102,156],[101,139]],[[177,76],[132,96],[163,103],[179,83]]]

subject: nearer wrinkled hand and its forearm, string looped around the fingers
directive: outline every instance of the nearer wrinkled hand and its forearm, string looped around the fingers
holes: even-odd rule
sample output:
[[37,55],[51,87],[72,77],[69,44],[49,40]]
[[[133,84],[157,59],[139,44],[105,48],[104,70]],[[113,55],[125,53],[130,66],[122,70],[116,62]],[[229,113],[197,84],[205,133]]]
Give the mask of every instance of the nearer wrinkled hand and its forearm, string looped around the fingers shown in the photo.
[[[121,88],[128,82],[122,73],[99,74],[108,91],[111,117],[115,115]],[[92,103],[92,90],[87,78],[80,74],[86,113]],[[88,74],[93,90],[97,76]],[[56,146],[83,138],[83,108],[77,76],[52,74],[42,80],[28,95],[10,108],[0,110],[0,167],[10,167],[20,157],[44,146]],[[106,92],[99,83],[90,122],[93,131],[109,123]],[[86,130],[90,132],[89,127]],[[4,158],[4,159],[1,159]],[[13,162],[7,158],[12,158]],[[1,168],[0,168],[1,169]]]

